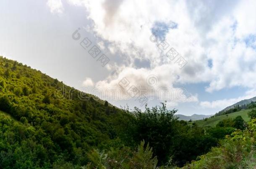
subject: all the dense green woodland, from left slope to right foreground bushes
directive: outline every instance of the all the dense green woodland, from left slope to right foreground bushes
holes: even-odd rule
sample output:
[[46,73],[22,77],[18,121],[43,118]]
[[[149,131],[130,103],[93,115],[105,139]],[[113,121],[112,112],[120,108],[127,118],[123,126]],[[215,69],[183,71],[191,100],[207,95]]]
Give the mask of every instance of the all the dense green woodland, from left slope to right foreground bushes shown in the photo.
[[256,111],[249,124],[238,116],[200,128],[179,121],[177,110],[168,110],[164,101],[145,111],[116,108],[3,57],[0,75],[0,168],[215,169],[254,164]]

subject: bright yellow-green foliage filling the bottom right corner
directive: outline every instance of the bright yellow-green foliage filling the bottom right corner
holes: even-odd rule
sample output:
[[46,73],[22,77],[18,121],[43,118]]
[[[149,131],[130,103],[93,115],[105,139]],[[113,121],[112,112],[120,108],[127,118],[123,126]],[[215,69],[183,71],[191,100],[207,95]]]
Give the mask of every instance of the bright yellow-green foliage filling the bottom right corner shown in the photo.
[[193,161],[184,168],[194,169],[242,169],[256,166],[255,131],[256,120],[249,123],[249,130],[235,131],[221,142],[219,147],[200,156],[199,161]]

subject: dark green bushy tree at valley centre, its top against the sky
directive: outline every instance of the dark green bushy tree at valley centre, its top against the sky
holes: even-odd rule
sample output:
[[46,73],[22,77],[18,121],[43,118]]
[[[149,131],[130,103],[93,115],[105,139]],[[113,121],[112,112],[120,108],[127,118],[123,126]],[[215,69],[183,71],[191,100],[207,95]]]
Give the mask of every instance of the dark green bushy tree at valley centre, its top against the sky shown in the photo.
[[160,163],[165,163],[172,155],[174,137],[178,134],[175,127],[178,118],[174,116],[177,110],[167,110],[166,103],[160,107],[148,108],[142,112],[135,108],[133,112],[136,122],[133,128],[133,138],[139,143],[145,140],[153,147],[154,155]]

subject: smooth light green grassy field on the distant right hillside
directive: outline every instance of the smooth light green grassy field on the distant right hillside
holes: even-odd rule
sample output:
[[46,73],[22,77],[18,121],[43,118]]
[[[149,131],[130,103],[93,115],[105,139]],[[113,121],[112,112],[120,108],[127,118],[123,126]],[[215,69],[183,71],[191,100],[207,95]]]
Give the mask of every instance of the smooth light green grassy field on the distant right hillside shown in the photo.
[[249,117],[248,117],[247,113],[251,110],[252,109],[241,110],[241,111],[238,111],[238,112],[235,112],[235,113],[209,118],[209,119],[207,119],[207,121],[198,120],[198,121],[195,121],[195,122],[200,127],[216,126],[216,124],[218,124],[219,121],[221,121],[223,119],[227,119],[227,118],[234,119],[236,116],[242,116],[242,118],[247,122],[247,121],[249,121]]

